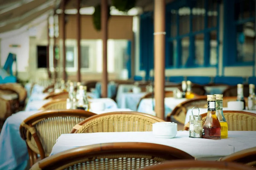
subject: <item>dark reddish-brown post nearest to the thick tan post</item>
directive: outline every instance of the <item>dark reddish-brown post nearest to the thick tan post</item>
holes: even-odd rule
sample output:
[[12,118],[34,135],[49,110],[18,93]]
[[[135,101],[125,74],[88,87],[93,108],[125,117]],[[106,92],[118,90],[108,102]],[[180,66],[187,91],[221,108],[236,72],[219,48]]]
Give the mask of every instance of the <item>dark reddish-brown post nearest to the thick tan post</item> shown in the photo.
[[108,1],[101,0],[101,30],[102,30],[102,97],[108,97]]

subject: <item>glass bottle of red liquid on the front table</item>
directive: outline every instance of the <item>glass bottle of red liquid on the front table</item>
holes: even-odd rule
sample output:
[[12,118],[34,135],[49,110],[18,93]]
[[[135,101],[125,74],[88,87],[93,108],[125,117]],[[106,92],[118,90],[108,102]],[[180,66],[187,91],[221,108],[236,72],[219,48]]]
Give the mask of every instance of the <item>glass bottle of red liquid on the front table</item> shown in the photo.
[[216,95],[207,95],[208,112],[203,123],[204,139],[221,139],[221,124],[216,115]]

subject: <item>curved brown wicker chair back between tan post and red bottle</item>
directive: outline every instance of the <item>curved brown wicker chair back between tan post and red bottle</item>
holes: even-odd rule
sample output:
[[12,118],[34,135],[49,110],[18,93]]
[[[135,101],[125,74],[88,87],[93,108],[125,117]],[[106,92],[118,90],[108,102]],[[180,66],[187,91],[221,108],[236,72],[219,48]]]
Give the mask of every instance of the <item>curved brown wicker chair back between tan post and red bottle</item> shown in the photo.
[[173,109],[172,113],[167,115],[167,122],[172,122],[173,118],[184,124],[187,111],[193,107],[207,108],[207,96],[198,96],[180,103]]

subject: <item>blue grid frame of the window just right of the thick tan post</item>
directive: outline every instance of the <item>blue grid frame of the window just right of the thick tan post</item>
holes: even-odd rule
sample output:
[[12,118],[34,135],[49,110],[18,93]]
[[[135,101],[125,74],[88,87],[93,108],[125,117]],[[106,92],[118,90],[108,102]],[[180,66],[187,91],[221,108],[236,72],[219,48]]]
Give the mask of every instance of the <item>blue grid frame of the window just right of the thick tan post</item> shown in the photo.
[[[216,26],[208,28],[208,15],[204,15],[204,29],[201,31],[193,31],[193,14],[192,8],[195,3],[189,0],[180,0],[169,3],[166,7],[166,68],[167,69],[177,69],[177,68],[205,68],[205,67],[217,67],[218,68],[218,57],[219,57],[219,8],[220,4],[217,3],[217,20]],[[178,10],[183,7],[190,8],[189,14],[189,33],[180,35],[180,17],[178,15]],[[172,10],[176,10],[176,36],[171,37],[171,16]],[[208,0],[204,0],[204,10],[205,14],[208,12]],[[210,33],[216,31],[216,64],[210,64]],[[204,34],[204,64],[198,65],[195,63],[195,36],[198,34]],[[189,56],[185,65],[182,65],[182,45],[181,40],[184,37],[189,37]],[[176,50],[177,55],[173,56],[173,53],[169,51],[169,43],[177,42]],[[175,58],[174,58],[175,57]],[[173,65],[169,65],[170,60],[173,60]]]

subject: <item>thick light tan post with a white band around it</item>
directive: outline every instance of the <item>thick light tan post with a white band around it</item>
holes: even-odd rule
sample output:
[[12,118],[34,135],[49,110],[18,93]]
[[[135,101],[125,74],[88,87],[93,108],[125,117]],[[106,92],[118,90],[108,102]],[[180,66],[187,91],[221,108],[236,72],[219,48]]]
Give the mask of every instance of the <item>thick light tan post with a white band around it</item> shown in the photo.
[[154,96],[157,117],[164,119],[165,0],[154,0]]

